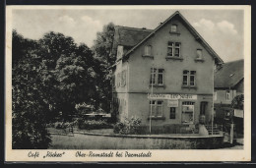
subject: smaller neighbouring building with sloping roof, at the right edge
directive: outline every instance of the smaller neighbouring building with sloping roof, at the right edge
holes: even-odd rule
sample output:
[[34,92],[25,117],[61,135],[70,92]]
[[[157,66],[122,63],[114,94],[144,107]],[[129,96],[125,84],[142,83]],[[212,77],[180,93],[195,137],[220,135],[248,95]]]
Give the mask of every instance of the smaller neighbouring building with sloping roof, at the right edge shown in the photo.
[[244,92],[244,60],[224,63],[215,73],[215,113],[223,120],[232,110],[230,104],[236,95]]

